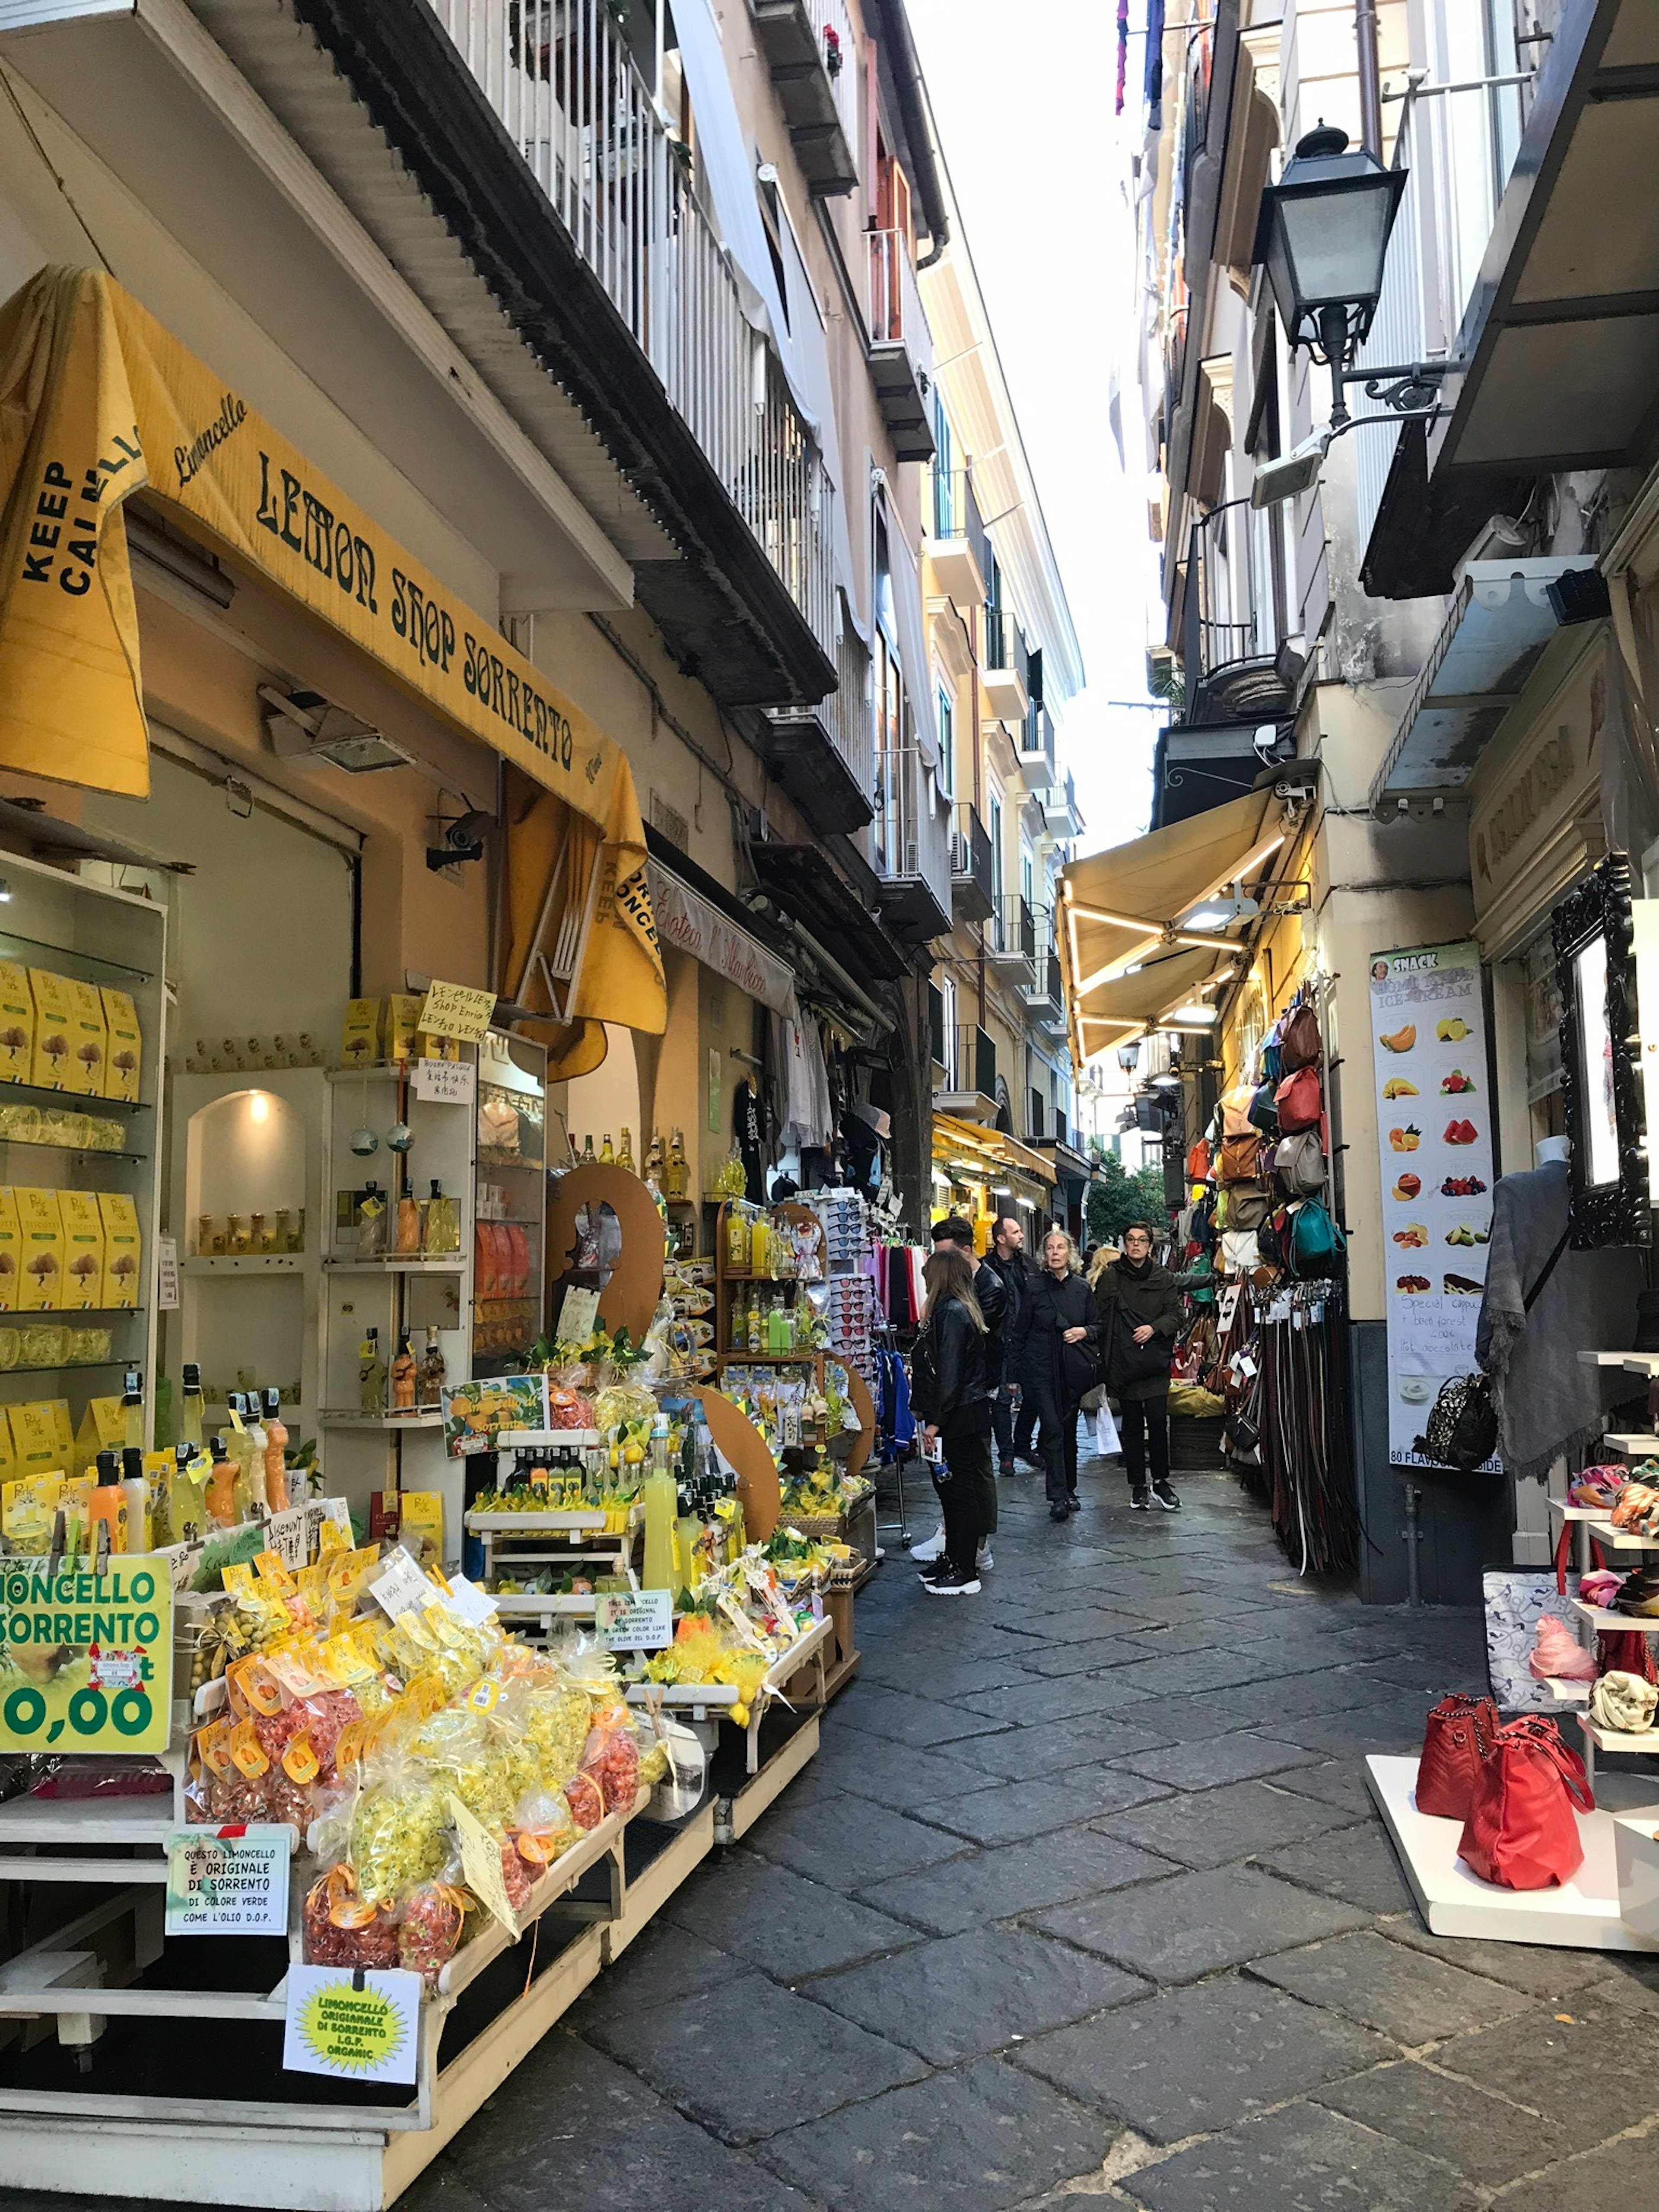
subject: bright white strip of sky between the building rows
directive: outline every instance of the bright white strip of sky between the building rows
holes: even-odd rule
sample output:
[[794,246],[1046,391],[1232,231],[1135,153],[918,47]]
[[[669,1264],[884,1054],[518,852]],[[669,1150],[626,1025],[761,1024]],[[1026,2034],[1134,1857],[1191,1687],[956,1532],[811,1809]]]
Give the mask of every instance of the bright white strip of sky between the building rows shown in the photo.
[[[945,159],[973,248],[1002,372],[1037,478],[1084,650],[1088,688],[1064,714],[1082,849],[1146,830],[1157,714],[1146,624],[1157,560],[1146,535],[1146,456],[1135,374],[1135,226],[1128,133],[1139,135],[1141,38],[1117,88],[1110,0],[907,0]],[[1133,0],[1133,22],[1144,22]],[[1119,467],[1108,422],[1124,383]]]

